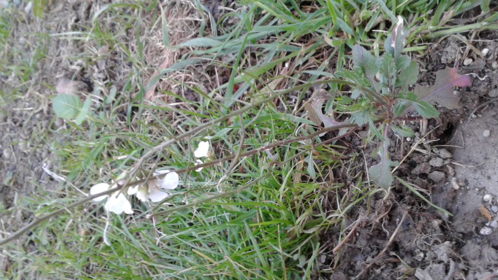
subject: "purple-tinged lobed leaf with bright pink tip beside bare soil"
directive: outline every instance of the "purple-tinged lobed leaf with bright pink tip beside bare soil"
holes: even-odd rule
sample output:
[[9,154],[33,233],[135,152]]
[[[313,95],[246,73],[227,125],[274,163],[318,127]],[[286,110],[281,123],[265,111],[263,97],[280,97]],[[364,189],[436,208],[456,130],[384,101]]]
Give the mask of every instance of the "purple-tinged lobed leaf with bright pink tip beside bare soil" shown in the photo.
[[437,102],[448,109],[458,109],[460,97],[453,94],[453,87],[471,86],[468,75],[459,75],[456,68],[446,68],[436,72],[436,82],[433,86],[415,86],[418,99],[427,103]]

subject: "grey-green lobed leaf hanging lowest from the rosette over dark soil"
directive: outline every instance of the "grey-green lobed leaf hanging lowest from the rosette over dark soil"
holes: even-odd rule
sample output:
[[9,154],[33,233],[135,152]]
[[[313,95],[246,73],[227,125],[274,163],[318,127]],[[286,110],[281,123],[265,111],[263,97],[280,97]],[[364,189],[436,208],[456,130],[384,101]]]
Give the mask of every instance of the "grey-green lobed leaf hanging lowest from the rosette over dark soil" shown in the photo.
[[369,168],[369,176],[375,184],[384,189],[388,189],[393,181],[391,174],[391,166],[396,166],[399,163],[390,161],[389,159],[389,140],[385,138],[379,147],[380,162]]

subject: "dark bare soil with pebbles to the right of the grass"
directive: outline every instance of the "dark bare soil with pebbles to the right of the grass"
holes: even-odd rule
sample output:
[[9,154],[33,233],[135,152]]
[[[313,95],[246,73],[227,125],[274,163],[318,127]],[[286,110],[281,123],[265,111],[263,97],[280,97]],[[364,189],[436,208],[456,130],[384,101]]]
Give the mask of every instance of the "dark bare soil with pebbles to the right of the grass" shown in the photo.
[[[489,48],[488,56],[471,51],[473,62],[459,66],[461,74],[473,77],[472,87],[456,89],[462,108],[443,109],[439,118],[429,120],[425,131],[432,133],[394,173],[452,216],[430,208],[400,184],[388,199],[375,195],[370,201],[374,210],[364,204],[349,214],[346,226],[360,225],[339,257],[321,256],[321,270],[330,271],[329,279],[498,279],[498,70],[493,67],[498,34],[481,36],[475,46]],[[465,52],[455,37],[431,46],[429,55],[420,58],[425,71],[419,82],[430,84],[434,71],[455,67]],[[421,124],[411,123],[416,137],[410,142],[391,139],[390,152],[397,160],[424,135]],[[338,237],[337,229],[323,235],[324,240]]]

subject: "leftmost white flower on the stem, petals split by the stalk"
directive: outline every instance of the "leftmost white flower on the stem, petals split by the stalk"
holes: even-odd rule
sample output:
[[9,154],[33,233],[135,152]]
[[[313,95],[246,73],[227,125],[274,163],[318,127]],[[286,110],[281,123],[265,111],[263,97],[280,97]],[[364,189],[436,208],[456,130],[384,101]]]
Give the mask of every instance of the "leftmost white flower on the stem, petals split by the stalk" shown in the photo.
[[[101,192],[105,192],[109,189],[115,188],[116,185],[109,185],[107,183],[100,183],[96,184],[90,189],[90,194],[98,194]],[[94,201],[102,201],[104,199],[108,198],[106,204],[104,205],[104,208],[107,211],[116,213],[116,214],[121,214],[121,213],[126,213],[126,214],[133,214],[133,210],[131,209],[131,204],[129,201],[126,199],[124,194],[120,193],[120,191],[116,191],[112,193],[111,195],[105,194],[99,197],[94,198]]]

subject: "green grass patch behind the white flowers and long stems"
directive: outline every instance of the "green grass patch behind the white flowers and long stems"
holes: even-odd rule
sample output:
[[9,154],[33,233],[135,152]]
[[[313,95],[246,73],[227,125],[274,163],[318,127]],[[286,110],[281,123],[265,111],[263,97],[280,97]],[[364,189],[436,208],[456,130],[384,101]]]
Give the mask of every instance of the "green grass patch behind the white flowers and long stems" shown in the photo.
[[[203,10],[198,1],[195,3],[198,10]],[[122,86],[115,97],[111,88],[117,81],[108,81],[93,92],[96,102],[84,125],[68,122],[67,129],[51,131],[45,137],[52,141],[60,158],[57,173],[88,192],[93,184],[110,181],[129,170],[161,141],[280,90],[296,89],[274,103],[175,142],[147,159],[140,171],[147,173],[156,167],[180,169],[193,164],[193,150],[203,139],[210,141],[216,159],[236,154],[241,145],[246,151],[314,133],[302,109],[313,89],[298,86],[349,67],[354,44],[378,46],[375,51],[382,52],[385,32],[395,15],[407,21],[407,49],[419,53],[431,39],[498,27],[496,13],[483,14],[478,22],[467,25],[447,26],[452,18],[479,6],[480,1],[317,0],[302,9],[295,0],[242,3],[245,8],[225,12],[215,28],[211,27],[213,17],[205,12],[196,14],[197,38],[184,41],[180,59],[162,69],[163,76],[155,78],[164,78],[182,89],[181,93],[162,91],[170,100],[181,102],[179,106],[150,103],[143,96],[150,67],[156,66],[147,65],[149,58],[143,54],[152,40],[147,36],[159,34],[158,40],[166,47],[179,47],[170,46],[170,38],[162,33],[168,29],[166,18],[153,1],[104,6],[78,30],[51,34],[49,38],[39,34],[39,40],[33,42],[37,47],[31,60],[26,56],[24,64],[0,63],[6,65],[0,66],[0,71],[6,76],[14,73],[21,84],[33,79],[38,63],[48,60],[43,50],[50,40],[85,42],[85,51],[67,59],[82,59],[87,67],[98,60],[90,49],[102,46],[108,46],[115,52],[113,56],[127,65],[122,66],[124,70],[117,77]],[[11,24],[22,24],[13,19],[14,14],[2,13],[3,50],[13,36],[8,32]],[[17,51],[8,49],[0,59],[22,61],[11,59],[19,55]],[[281,71],[285,63],[289,63],[288,72]],[[227,70],[228,81],[207,90],[202,82],[185,81],[177,75],[199,74],[206,69],[217,69],[217,73]],[[341,90],[337,84],[328,86]],[[10,93],[2,95],[4,104],[11,100],[6,96],[21,97],[16,87],[7,89]],[[198,100],[186,98],[186,91],[196,94]],[[269,151],[274,158],[261,152],[234,164],[222,162],[201,172],[182,173],[181,188],[174,191],[167,204],[158,207],[132,198],[133,215],[110,216],[108,238],[112,246],[102,240],[106,214],[101,204],[86,203],[68,209],[33,229],[22,242],[6,246],[4,254],[11,263],[8,271],[0,275],[13,279],[189,280],[290,280],[326,275],[314,269],[318,255],[329,253],[322,252],[328,249],[322,247],[319,234],[330,228],[340,228],[346,234],[344,216],[358,203],[370,199],[376,190],[362,180],[363,173],[358,170],[363,168],[355,166],[355,162],[363,162],[356,161],[356,156],[361,155],[348,154],[346,147],[334,144],[312,145],[318,142],[315,138],[280,146]],[[345,182],[330,179],[329,171],[338,166],[348,166],[348,176],[357,182],[351,193],[344,191],[349,188]],[[41,215],[83,197],[64,183],[56,190],[38,190],[31,197],[18,198],[19,209]],[[328,195],[334,202],[324,205]],[[6,214],[12,211],[3,210]],[[150,215],[156,212],[160,213],[152,219]]]

